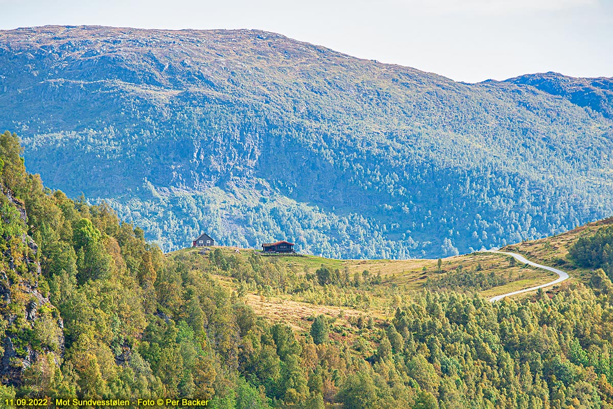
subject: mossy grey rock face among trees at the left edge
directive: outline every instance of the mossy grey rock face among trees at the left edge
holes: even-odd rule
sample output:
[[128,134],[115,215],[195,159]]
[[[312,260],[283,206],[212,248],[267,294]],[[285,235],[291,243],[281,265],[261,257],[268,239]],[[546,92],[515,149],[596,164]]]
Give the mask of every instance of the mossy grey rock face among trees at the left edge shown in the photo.
[[1,238],[7,248],[0,253],[0,381],[20,386],[23,373],[40,354],[52,353],[56,363],[61,362],[63,322],[57,308],[39,289],[39,280],[44,278],[36,261],[38,246],[26,234],[25,207],[7,189],[0,188],[0,195],[2,201],[18,210],[23,224],[19,239]]

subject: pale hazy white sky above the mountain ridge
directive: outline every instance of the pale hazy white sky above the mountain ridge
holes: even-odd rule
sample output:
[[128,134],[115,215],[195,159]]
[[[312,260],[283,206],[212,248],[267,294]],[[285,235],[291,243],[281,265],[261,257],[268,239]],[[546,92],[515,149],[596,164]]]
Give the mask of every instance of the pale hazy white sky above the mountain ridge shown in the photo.
[[0,28],[256,28],[454,80],[613,77],[613,0],[0,0]]

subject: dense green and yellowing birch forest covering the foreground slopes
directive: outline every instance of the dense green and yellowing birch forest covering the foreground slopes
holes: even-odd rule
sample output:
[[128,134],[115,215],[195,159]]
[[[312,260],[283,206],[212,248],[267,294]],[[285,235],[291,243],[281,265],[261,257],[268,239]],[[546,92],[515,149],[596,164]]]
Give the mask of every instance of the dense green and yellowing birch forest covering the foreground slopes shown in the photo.
[[[0,137],[0,400],[190,397],[213,408],[610,408],[613,284],[595,270],[546,296],[494,304],[423,291],[367,319],[386,283],[295,271],[257,253],[167,257],[106,204],[28,174]],[[597,242],[600,239],[596,239]],[[440,268],[440,267],[439,267]],[[235,289],[224,285],[226,277]],[[327,304],[354,294],[356,342],[335,317],[295,331],[246,294]],[[386,291],[389,292],[389,291]]]

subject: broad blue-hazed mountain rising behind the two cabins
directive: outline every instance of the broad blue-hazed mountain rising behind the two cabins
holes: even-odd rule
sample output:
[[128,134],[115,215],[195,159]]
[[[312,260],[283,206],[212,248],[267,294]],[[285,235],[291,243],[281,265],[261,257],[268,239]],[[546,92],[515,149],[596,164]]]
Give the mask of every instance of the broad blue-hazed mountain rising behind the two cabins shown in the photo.
[[0,128],[164,250],[204,231],[438,257],[613,212],[611,80],[554,77],[459,83],[255,30],[22,28],[0,32]]

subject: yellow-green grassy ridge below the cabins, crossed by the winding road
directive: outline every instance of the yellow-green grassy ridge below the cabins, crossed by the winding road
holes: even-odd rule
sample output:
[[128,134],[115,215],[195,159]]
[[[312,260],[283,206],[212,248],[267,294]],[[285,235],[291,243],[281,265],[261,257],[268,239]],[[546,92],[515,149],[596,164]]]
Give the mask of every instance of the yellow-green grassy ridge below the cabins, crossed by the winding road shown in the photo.
[[[395,308],[401,302],[400,300],[410,299],[412,295],[415,296],[423,291],[474,292],[476,288],[474,283],[471,283],[470,286],[456,285],[452,288],[447,285],[445,279],[458,272],[465,271],[472,276],[480,275],[484,281],[492,277],[506,278],[504,283],[500,285],[478,291],[480,296],[487,297],[492,302],[511,296],[516,299],[533,298],[536,289],[533,291],[527,291],[527,289],[535,286],[545,286],[544,291],[553,296],[560,290],[560,285],[568,285],[568,283],[562,283],[562,281],[570,280],[569,282],[573,282],[576,279],[572,276],[568,277],[568,275],[560,277],[551,270],[530,266],[527,262],[522,262],[522,256],[519,254],[503,253],[503,251],[521,249],[520,251],[524,251],[525,254],[533,255],[539,261],[543,261],[541,253],[528,249],[554,248],[552,243],[556,243],[555,254],[557,258],[555,260],[550,259],[549,262],[555,262],[557,265],[565,264],[565,267],[570,267],[570,270],[579,277],[585,277],[587,275],[585,270],[571,267],[572,263],[565,259],[565,256],[560,257],[560,255],[568,253],[568,248],[577,241],[581,234],[585,234],[586,231],[590,231],[595,226],[609,225],[613,224],[601,221],[582,226],[575,231],[557,237],[520,243],[499,251],[479,251],[444,258],[441,259],[440,267],[438,267],[438,260],[436,259],[340,260],[304,254],[301,256],[275,254],[264,257],[264,255],[259,255],[261,254],[260,251],[234,247],[213,247],[207,248],[207,250],[187,248],[169,253],[167,257],[191,266],[193,269],[202,270],[211,270],[211,260],[216,258],[230,259],[237,266],[248,259],[261,258],[263,261],[272,263],[278,269],[284,269],[287,275],[307,281],[318,280],[317,270],[319,269],[326,269],[332,275],[337,273],[339,276],[337,283],[333,284],[333,280],[330,281],[330,288],[326,290],[327,293],[331,289],[332,294],[321,299],[302,295],[300,291],[288,292],[286,287],[278,285],[278,276],[271,277],[272,280],[265,284],[264,291],[262,289],[259,289],[259,291],[246,290],[243,286],[244,283],[240,283],[236,277],[232,277],[232,269],[229,269],[230,275],[218,272],[215,277],[221,280],[224,287],[234,294],[237,291],[244,292],[245,303],[252,307],[257,315],[270,319],[271,322],[281,321],[292,326],[295,331],[307,333],[312,319],[317,315],[324,314],[335,320],[333,328],[337,334],[333,335],[337,335],[341,339],[346,338],[342,342],[354,342],[356,334],[351,331],[351,322],[355,324],[360,316],[364,321],[368,316],[373,317],[377,323],[383,323],[393,315]],[[212,252],[217,253],[217,255],[213,256]],[[519,261],[512,261],[511,254],[516,254]],[[565,261],[562,262],[562,260]],[[340,277],[343,275],[346,276],[345,279]],[[343,288],[349,285],[350,288],[354,287],[356,291],[359,291],[357,289],[360,285],[356,285],[356,283],[360,279],[368,280],[366,277],[375,278],[373,284],[363,287],[361,291],[362,294],[370,297],[368,304],[347,302],[348,299],[342,297]],[[550,284],[552,282],[554,284]],[[519,293],[514,294],[515,292]]]

